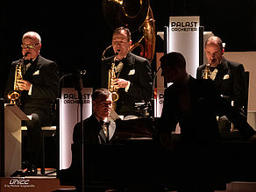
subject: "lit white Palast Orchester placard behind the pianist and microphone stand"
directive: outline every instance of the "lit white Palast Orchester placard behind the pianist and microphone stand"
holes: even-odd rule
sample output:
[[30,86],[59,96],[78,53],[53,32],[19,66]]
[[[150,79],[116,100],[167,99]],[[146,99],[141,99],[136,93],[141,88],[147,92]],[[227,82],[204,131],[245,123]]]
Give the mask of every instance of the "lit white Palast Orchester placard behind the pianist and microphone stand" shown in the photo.
[[[92,88],[82,89],[83,119],[92,114],[92,90]],[[77,91],[74,88],[63,88],[60,99],[60,170],[71,165],[73,130],[75,124],[80,121],[80,104]]]

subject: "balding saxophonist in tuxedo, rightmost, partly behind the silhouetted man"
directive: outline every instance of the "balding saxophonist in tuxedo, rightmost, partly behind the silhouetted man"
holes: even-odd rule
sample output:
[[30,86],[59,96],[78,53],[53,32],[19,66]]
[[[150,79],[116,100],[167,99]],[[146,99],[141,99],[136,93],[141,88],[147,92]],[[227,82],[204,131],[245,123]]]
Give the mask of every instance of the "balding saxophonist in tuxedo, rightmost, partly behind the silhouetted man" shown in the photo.
[[[223,56],[222,39],[212,36],[205,42],[207,60],[209,62],[209,77],[205,76],[206,64],[197,68],[196,78],[210,78],[219,95],[241,110],[247,105],[247,88],[245,82],[245,68],[243,64],[226,60]],[[246,112],[244,112],[246,114]],[[230,120],[221,114],[218,118],[220,132],[230,132]]]

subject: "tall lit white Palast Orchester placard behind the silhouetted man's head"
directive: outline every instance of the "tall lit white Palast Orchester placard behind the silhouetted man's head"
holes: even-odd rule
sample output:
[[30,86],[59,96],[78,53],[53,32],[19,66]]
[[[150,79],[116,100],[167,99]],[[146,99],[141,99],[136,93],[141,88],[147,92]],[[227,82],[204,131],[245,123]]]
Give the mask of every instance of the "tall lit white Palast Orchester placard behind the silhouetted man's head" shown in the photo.
[[187,61],[188,74],[193,77],[196,77],[199,66],[199,26],[198,16],[169,18],[167,53],[182,53]]

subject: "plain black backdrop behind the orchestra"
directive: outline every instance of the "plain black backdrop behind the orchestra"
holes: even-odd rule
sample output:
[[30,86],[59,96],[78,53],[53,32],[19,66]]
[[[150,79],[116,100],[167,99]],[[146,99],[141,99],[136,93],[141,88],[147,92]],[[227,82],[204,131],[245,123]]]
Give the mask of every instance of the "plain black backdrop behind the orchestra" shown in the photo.
[[[200,16],[204,31],[224,40],[225,51],[256,49],[255,0],[150,0],[150,5],[156,32],[164,30],[170,16]],[[99,86],[101,57],[110,46],[112,34],[103,17],[101,0],[1,0],[0,9],[1,92],[11,61],[22,57],[21,39],[28,31],[39,32],[41,55],[57,62],[60,75],[86,69],[84,87]],[[134,32],[132,38],[139,38],[139,34]],[[156,44],[156,52],[161,52],[160,38]]]

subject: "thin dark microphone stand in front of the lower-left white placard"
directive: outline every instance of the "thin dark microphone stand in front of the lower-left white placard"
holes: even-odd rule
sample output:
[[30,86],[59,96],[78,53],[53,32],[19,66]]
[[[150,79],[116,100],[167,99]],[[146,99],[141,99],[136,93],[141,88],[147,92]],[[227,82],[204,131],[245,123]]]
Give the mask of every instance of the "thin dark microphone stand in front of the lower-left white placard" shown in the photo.
[[80,103],[80,120],[81,120],[81,133],[82,133],[82,192],[84,192],[84,157],[83,157],[83,148],[84,148],[84,135],[83,135],[83,120],[82,120],[82,76],[80,70],[78,70],[77,77],[76,77],[76,83],[75,83],[75,90],[77,90],[78,93],[78,99]]

